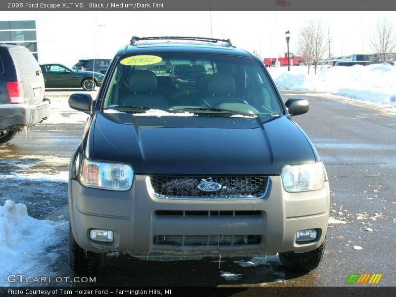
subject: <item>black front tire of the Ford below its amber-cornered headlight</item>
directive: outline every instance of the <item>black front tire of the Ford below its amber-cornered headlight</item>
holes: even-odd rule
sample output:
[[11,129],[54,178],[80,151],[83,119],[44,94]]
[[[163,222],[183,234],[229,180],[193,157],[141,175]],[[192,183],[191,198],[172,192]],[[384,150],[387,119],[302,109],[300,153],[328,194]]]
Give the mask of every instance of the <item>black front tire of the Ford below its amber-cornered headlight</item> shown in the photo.
[[101,253],[85,250],[76,243],[69,222],[69,264],[77,274],[96,274],[99,272]]

